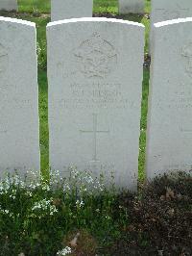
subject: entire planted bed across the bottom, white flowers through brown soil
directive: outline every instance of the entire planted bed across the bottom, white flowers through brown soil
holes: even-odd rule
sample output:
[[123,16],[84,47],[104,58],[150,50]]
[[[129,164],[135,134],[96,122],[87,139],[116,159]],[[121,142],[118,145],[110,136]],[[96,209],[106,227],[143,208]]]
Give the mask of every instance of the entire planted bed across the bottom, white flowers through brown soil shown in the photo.
[[[88,173],[71,173],[71,183],[58,183],[58,172],[50,185],[1,181],[0,255],[192,255],[190,175],[117,193]],[[77,190],[80,175],[87,184]]]

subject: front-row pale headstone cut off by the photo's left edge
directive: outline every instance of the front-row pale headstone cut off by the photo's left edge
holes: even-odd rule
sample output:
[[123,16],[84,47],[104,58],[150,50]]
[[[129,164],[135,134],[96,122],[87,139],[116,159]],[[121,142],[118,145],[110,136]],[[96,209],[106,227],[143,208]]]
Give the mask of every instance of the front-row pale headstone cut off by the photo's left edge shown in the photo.
[[36,24],[0,17],[0,174],[39,170]]

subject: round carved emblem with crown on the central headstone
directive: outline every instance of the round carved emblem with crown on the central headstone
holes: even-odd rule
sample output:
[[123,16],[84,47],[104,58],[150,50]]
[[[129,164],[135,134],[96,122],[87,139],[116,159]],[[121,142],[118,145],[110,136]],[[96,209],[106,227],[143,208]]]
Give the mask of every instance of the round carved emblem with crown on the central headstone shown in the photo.
[[79,69],[87,78],[105,78],[117,65],[117,52],[108,40],[94,33],[74,53]]

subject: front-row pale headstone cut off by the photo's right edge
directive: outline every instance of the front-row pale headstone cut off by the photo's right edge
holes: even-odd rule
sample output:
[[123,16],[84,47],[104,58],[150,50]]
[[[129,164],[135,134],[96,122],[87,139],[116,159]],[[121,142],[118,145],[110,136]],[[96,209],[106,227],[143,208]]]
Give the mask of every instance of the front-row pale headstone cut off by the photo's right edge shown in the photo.
[[147,177],[192,168],[192,18],[155,24]]

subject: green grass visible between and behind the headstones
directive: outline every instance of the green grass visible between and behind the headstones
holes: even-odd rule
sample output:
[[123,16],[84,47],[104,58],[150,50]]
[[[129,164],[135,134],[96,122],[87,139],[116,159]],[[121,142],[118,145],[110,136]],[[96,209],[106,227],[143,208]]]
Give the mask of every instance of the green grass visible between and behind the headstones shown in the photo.
[[[49,168],[49,133],[48,133],[48,90],[46,75],[46,24],[50,21],[50,15],[39,15],[36,13],[50,12],[50,3],[47,0],[18,0],[19,13],[16,17],[30,20],[36,23],[37,45],[38,45],[38,86],[39,86],[39,118],[40,118],[40,151],[41,151],[41,170],[47,173]],[[146,12],[150,10],[150,1],[146,1]],[[25,12],[25,13],[23,13]],[[94,13],[118,13],[117,0],[94,0]],[[5,14],[5,13],[3,13]],[[12,13],[6,13],[12,15]],[[14,14],[13,14],[14,15]],[[145,51],[148,51],[149,39],[149,19],[145,15],[128,14],[124,19],[140,22],[146,27]],[[40,49],[40,50],[39,50]],[[146,144],[146,116],[147,116],[147,97],[149,87],[149,70],[144,69],[143,80],[143,99],[141,116],[141,137],[139,154],[139,179],[144,178],[145,164],[145,144]]]

